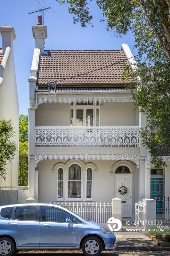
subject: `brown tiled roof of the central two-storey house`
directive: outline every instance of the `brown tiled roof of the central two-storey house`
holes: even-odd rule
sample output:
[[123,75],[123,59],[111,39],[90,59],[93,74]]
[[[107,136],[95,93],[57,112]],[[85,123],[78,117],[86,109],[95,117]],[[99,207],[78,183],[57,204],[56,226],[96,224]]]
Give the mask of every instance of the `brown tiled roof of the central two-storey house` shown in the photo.
[[[124,84],[121,80],[124,60],[123,50],[48,50],[47,55],[40,55],[36,83],[47,84],[47,82],[58,81],[57,84],[79,86]],[[113,63],[115,65],[111,67],[99,69]],[[99,70],[84,74],[94,69]],[[80,74],[84,75],[68,79]],[[65,78],[67,79],[59,81]]]

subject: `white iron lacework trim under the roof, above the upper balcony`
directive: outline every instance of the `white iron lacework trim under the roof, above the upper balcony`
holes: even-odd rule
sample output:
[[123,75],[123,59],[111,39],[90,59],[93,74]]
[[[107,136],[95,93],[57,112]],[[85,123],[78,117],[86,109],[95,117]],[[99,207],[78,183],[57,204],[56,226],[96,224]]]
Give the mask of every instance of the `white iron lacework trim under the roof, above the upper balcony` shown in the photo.
[[65,98],[38,98],[37,107],[42,103],[80,103],[80,102],[132,102],[132,97],[65,97]]

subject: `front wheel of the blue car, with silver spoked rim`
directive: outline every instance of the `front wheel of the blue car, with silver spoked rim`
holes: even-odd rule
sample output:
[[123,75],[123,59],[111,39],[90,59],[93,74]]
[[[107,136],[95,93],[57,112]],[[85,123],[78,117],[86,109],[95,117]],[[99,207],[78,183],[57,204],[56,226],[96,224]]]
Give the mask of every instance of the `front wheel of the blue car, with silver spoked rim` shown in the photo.
[[87,237],[82,242],[82,251],[84,255],[98,256],[103,250],[103,244],[97,237]]

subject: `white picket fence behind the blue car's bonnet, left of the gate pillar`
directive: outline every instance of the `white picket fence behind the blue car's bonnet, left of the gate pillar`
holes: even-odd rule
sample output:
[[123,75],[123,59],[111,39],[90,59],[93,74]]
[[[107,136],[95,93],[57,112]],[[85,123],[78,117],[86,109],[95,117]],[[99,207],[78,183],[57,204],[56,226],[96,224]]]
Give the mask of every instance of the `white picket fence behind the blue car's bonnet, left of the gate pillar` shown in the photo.
[[107,223],[108,219],[112,217],[112,205],[109,203],[58,202],[57,204],[77,213],[85,219],[103,224]]

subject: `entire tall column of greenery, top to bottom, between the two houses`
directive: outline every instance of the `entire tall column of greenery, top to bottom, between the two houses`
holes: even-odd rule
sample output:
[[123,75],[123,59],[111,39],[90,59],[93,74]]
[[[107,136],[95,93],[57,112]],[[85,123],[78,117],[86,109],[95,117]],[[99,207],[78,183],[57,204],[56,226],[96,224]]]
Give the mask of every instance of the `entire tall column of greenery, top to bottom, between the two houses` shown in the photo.
[[28,185],[28,116],[19,116],[19,186]]

